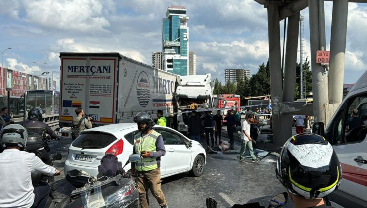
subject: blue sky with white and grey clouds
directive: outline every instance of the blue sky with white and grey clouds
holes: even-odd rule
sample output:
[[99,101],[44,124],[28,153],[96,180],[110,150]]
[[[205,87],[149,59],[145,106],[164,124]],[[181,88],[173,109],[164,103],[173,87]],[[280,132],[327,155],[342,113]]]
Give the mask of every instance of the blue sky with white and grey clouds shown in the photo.
[[[151,52],[161,49],[161,21],[169,5],[187,8],[198,74],[224,81],[225,68],[253,74],[266,63],[267,13],[253,0],[1,0],[0,51],[12,48],[3,54],[4,67],[36,75],[41,67],[59,80],[59,52],[119,52],[151,64]],[[325,2],[327,43],[331,11],[332,3]],[[309,56],[308,9],[302,14]],[[366,34],[367,6],[350,3],[344,83],[355,83],[366,71]]]

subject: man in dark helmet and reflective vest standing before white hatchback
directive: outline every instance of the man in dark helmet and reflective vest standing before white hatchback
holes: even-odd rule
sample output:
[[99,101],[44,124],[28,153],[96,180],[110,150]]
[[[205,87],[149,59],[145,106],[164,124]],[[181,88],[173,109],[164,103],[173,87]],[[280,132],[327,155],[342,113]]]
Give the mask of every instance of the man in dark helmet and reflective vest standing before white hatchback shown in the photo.
[[136,178],[140,206],[149,208],[148,189],[157,199],[161,208],[168,208],[164,194],[161,190],[161,156],[166,154],[162,135],[153,130],[153,117],[146,112],[139,112],[134,117],[139,133],[134,138],[133,154],[141,154],[138,162],[131,163],[131,173],[141,173],[143,177]]

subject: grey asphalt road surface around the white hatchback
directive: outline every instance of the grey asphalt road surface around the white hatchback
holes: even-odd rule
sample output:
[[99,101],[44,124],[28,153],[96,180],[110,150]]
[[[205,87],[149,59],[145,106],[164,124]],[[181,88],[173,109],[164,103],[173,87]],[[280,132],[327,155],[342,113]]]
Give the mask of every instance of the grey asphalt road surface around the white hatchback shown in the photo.
[[[227,138],[222,140],[228,141]],[[58,152],[63,155],[62,160],[54,162],[60,170],[63,170],[70,143],[71,139],[67,138],[50,142],[50,154]],[[233,148],[239,150],[240,143],[235,141]],[[249,202],[260,202],[267,207],[271,196],[285,191],[275,176],[275,155],[268,154],[258,163],[252,163],[251,160],[239,162],[236,158],[238,154],[207,153],[207,163],[201,177],[183,173],[164,178],[162,190],[170,208],[205,208],[207,197],[215,199],[218,208]],[[65,180],[63,171],[61,176],[56,177],[55,188],[54,195],[61,206],[73,190],[73,186]],[[159,208],[151,194],[149,199],[151,208]],[[288,203],[287,207],[293,207],[292,203]]]

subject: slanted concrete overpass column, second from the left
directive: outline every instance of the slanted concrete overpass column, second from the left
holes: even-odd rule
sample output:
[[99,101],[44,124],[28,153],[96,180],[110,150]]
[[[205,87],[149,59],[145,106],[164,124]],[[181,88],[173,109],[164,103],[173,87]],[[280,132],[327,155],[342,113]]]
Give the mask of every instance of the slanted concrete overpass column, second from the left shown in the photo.
[[[294,102],[300,12],[288,18],[283,102]],[[282,114],[282,140],[292,136],[292,114]],[[283,130],[284,127],[284,130]]]

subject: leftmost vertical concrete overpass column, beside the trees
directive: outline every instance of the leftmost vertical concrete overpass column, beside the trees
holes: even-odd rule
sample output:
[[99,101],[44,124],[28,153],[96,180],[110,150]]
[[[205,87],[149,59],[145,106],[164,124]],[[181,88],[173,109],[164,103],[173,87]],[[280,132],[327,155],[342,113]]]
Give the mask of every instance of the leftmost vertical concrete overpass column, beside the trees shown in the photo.
[[282,96],[282,68],[280,58],[280,26],[278,5],[268,7],[269,62],[270,62],[270,91],[272,103],[273,137],[276,145],[282,145],[282,122],[280,120],[279,102]]

